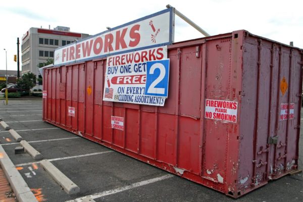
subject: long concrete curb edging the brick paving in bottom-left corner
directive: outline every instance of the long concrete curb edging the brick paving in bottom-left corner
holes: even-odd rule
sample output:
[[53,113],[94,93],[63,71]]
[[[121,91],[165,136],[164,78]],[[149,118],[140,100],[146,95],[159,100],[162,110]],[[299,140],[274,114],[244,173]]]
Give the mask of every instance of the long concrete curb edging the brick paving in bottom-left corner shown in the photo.
[[34,196],[33,192],[29,189],[28,185],[22,178],[21,174],[17,171],[15,165],[11,161],[11,159],[6,154],[5,150],[3,149],[2,145],[0,145],[0,163],[4,173],[10,182],[15,195],[19,202],[38,202],[36,197]]

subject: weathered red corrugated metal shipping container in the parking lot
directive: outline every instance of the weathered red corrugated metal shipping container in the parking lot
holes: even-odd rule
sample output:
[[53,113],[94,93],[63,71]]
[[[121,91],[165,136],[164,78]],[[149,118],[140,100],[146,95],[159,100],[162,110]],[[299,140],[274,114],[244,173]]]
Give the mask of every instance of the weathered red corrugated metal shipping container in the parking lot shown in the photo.
[[[297,169],[302,53],[244,30],[170,45],[164,107],[103,101],[106,59],[45,69],[43,120],[239,197]],[[220,100],[235,116],[206,118]]]

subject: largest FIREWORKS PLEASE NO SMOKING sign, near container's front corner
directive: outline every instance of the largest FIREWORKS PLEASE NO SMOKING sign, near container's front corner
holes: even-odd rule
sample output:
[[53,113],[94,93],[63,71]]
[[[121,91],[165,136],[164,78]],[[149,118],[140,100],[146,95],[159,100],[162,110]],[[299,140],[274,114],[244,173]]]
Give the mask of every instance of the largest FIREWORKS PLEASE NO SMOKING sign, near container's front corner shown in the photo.
[[205,118],[237,122],[238,103],[228,100],[206,99]]

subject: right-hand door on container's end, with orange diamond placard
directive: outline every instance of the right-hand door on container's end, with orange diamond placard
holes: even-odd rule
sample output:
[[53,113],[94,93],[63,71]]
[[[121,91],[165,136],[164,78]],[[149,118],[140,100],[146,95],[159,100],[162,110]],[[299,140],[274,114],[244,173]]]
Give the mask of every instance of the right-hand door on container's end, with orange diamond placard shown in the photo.
[[276,127],[268,143],[273,147],[270,178],[279,178],[297,168],[300,121],[301,56],[290,47],[278,47]]

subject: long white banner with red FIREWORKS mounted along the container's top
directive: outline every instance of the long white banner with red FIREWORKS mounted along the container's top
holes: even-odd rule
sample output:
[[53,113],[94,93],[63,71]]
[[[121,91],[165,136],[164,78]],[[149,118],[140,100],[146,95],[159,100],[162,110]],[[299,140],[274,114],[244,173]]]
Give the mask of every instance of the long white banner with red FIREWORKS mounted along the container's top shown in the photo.
[[170,8],[57,48],[54,65],[60,66],[171,44],[172,21],[173,12]]

